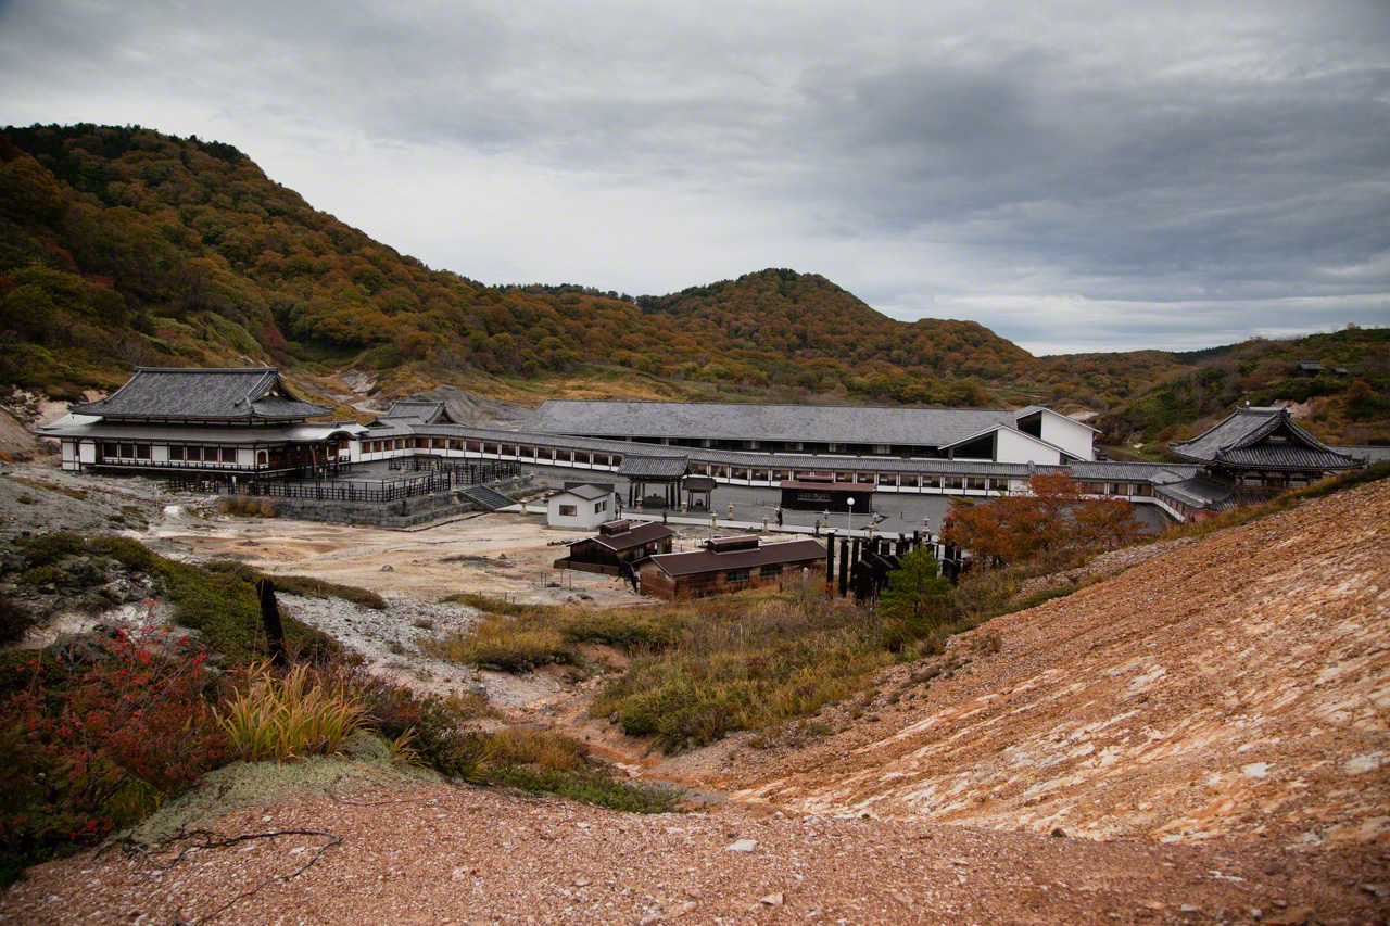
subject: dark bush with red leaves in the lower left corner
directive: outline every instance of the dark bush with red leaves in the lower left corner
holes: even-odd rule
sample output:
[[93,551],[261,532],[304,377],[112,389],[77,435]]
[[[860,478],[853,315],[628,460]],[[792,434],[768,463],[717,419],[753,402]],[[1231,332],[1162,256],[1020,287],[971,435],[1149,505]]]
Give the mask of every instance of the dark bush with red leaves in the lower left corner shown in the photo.
[[186,637],[145,626],[4,669],[0,883],[139,819],[228,761],[206,659]]

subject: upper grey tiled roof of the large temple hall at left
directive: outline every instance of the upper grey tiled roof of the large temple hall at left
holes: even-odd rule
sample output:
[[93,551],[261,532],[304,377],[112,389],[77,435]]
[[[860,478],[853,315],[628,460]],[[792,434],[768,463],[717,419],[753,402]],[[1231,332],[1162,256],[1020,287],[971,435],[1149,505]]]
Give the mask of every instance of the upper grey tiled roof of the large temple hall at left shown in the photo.
[[135,375],[104,399],[68,407],[103,419],[168,420],[296,420],[332,410],[295,398],[272,367],[136,367]]

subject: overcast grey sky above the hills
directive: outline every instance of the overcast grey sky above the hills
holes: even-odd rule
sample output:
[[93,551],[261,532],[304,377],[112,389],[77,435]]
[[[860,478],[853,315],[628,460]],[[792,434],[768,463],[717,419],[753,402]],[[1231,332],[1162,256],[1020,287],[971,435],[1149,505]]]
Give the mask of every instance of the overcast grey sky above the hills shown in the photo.
[[819,273],[1034,353],[1390,324],[1390,3],[0,0],[0,124],[484,282]]

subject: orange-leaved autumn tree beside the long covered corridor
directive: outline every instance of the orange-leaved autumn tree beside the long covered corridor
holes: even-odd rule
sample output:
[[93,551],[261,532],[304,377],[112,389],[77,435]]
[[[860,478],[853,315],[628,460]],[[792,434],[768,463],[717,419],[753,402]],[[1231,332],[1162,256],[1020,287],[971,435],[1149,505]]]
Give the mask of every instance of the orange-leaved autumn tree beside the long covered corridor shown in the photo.
[[1119,546],[1134,538],[1134,506],[1123,499],[1086,498],[1065,473],[1029,480],[1027,495],[960,505],[941,537],[970,551],[976,562],[1020,563],[1036,556]]

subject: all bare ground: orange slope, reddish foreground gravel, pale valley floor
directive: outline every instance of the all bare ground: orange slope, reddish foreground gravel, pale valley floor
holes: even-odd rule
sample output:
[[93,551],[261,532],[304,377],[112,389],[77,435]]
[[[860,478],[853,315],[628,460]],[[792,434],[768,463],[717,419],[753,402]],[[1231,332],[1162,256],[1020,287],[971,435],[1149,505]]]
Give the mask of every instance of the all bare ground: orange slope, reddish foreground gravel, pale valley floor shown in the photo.
[[[516,717],[703,793],[705,812],[427,781],[289,790],[224,813],[214,802],[199,825],[245,837],[234,845],[40,866],[0,897],[10,922],[1390,916],[1390,484],[1123,551],[1101,562],[1109,578],[963,634],[810,724],[674,758],[585,717],[592,679],[468,674],[416,649],[417,633],[473,620],[431,603],[450,591],[574,594],[518,580],[553,553],[543,528],[484,516],[368,531],[157,498],[147,510],[140,535],[161,552],[386,595],[385,612],[285,605],[379,672],[436,691],[481,683]],[[621,670],[616,653],[591,658]],[[318,836],[260,837],[291,829]]]

